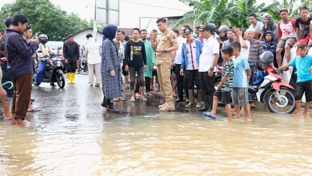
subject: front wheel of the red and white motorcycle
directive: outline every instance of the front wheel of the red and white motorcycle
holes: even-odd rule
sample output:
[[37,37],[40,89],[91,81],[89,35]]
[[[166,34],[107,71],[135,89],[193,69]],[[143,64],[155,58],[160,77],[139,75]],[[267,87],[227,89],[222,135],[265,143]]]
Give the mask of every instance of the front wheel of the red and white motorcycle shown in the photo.
[[271,92],[267,98],[267,106],[274,113],[292,113],[295,109],[295,94],[292,89],[281,88],[279,91],[281,102],[278,102],[277,93]]

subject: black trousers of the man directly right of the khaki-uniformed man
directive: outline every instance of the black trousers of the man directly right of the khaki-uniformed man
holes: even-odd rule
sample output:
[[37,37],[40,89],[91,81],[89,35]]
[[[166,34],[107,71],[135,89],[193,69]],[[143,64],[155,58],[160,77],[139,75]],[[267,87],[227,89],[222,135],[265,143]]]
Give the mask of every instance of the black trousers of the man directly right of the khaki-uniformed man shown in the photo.
[[187,80],[187,74],[184,69],[184,75],[180,75],[181,64],[176,64],[176,83],[177,83],[177,94],[180,99],[183,99],[183,89],[186,93],[186,98],[189,98],[189,84]]

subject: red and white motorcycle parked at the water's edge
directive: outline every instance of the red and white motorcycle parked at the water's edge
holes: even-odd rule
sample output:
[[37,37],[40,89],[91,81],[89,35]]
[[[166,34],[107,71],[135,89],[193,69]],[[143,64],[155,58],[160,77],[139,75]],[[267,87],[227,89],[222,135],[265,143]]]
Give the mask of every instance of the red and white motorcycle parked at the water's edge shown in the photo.
[[282,81],[272,63],[265,67],[264,79],[256,86],[248,86],[249,100],[264,103],[274,113],[292,113],[295,110],[294,88]]

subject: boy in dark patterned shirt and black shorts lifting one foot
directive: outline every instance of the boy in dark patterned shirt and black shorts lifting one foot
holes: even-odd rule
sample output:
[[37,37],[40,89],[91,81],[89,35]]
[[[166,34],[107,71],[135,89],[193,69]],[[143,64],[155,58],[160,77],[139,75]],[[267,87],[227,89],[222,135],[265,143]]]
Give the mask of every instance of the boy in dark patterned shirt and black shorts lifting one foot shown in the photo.
[[233,121],[230,105],[234,77],[234,62],[232,60],[233,48],[231,46],[225,46],[221,49],[221,54],[223,60],[225,60],[221,78],[222,80],[214,93],[213,110],[211,112],[204,112],[204,115],[207,115],[213,119],[216,118],[215,114],[220,98],[222,104],[225,105],[225,110],[228,115],[228,121],[231,122]]

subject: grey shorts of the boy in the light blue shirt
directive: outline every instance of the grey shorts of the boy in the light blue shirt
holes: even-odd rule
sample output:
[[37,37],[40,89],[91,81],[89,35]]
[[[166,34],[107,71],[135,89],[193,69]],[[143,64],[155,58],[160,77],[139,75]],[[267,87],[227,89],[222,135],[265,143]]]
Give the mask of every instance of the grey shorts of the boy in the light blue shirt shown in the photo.
[[247,88],[233,88],[232,101],[234,105],[240,107],[249,105]]

